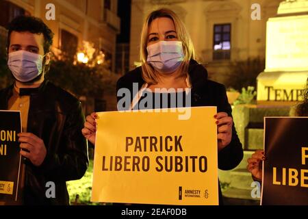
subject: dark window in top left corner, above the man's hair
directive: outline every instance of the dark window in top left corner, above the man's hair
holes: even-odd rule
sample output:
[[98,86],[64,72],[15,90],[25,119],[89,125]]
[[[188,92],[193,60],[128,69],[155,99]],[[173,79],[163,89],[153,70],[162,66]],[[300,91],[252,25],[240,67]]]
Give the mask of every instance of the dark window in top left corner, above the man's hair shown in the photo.
[[7,27],[8,24],[16,18],[16,16],[27,15],[30,13],[24,10],[23,8],[15,5],[9,1],[0,1],[0,26]]

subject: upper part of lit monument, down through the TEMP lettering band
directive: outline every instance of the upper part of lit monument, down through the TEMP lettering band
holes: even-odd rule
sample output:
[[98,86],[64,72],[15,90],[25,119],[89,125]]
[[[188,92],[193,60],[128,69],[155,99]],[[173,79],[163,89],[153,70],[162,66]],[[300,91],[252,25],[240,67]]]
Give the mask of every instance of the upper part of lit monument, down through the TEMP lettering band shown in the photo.
[[[266,25],[266,68],[257,77],[257,103],[302,101],[308,77],[308,0],[288,0]],[[273,103],[274,102],[274,103]]]

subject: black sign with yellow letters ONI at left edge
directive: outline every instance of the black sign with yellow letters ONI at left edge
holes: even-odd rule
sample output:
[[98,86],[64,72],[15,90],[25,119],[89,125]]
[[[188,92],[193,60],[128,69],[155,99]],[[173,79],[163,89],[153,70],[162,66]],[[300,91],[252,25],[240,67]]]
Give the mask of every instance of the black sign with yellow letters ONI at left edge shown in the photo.
[[18,133],[21,133],[21,113],[0,110],[0,203],[12,203],[18,198],[21,171]]

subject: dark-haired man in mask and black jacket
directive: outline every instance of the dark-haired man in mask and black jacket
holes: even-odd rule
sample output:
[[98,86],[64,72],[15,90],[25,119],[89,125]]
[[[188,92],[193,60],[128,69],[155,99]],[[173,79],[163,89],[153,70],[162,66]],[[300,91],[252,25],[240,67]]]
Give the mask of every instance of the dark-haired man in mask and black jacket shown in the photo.
[[[51,60],[52,31],[32,16],[14,18],[8,27],[8,67],[15,82],[0,91],[0,110],[21,111],[23,166],[17,203],[68,205],[66,181],[88,168],[88,145],[81,134],[81,103],[44,75]],[[55,196],[47,190],[53,183]]]

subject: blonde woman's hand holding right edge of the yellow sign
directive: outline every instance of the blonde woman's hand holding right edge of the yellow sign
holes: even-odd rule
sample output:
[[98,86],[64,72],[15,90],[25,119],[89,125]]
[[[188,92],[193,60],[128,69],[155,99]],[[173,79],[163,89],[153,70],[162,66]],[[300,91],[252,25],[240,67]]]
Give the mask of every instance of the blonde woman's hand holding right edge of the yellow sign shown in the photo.
[[231,142],[233,119],[225,112],[218,112],[214,118],[217,119],[216,124],[218,126],[217,138],[219,152]]

